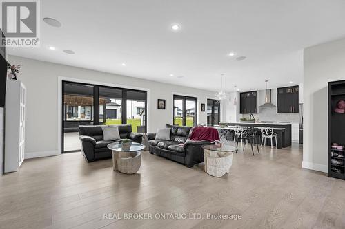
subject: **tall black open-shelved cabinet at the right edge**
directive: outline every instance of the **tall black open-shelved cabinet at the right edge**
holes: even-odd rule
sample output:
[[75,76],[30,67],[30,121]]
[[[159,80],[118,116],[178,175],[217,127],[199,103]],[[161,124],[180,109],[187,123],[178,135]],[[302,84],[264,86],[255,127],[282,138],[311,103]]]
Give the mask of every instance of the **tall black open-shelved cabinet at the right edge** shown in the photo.
[[342,100],[345,101],[345,80],[329,82],[328,177],[335,177],[339,179],[345,179],[345,103],[339,102]]

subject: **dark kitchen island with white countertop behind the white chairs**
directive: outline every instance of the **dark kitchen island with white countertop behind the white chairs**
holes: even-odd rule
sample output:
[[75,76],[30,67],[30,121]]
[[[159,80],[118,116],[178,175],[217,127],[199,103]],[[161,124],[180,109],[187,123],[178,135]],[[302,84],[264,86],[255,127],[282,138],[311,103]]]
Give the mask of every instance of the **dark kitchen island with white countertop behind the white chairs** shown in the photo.
[[[291,124],[284,122],[219,122],[219,125],[224,126],[241,126],[241,127],[270,127],[277,133],[277,148],[282,149],[291,146]],[[233,139],[233,131],[230,131],[228,139]],[[261,142],[260,142],[261,143]],[[266,139],[266,146],[270,146],[270,140]],[[273,142],[275,146],[275,142]]]

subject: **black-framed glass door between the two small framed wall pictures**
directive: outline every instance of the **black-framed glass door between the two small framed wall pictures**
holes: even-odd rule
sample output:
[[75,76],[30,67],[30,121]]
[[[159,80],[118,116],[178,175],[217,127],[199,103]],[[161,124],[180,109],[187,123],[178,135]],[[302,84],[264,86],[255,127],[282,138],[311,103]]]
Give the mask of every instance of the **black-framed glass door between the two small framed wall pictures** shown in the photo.
[[179,126],[197,125],[197,98],[174,95],[174,120]]

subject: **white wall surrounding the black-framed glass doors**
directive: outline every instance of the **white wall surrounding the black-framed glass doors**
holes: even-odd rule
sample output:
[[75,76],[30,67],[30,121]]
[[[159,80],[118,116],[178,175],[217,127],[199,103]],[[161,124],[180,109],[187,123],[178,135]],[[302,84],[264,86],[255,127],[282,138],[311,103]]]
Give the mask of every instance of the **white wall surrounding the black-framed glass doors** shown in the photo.
[[[156,132],[157,128],[172,123],[172,93],[197,97],[198,124],[206,124],[206,112],[200,111],[200,104],[207,104],[215,92],[158,83],[155,81],[119,76],[105,72],[92,71],[79,67],[58,65],[36,61],[19,56],[8,56],[12,64],[22,64],[19,80],[26,85],[26,157],[38,157],[58,154],[58,78],[77,78],[106,83],[148,89],[148,131]],[[166,109],[157,109],[157,99],[166,99]]]

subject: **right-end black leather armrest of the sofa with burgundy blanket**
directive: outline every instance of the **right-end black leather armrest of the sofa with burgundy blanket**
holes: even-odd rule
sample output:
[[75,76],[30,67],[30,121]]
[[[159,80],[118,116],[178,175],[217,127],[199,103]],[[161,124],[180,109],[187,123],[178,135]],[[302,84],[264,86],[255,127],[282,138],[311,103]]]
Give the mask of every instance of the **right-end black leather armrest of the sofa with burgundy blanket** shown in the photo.
[[208,141],[187,141],[184,143],[184,151],[186,153],[185,165],[188,168],[204,162],[204,149],[201,146],[205,144],[211,143]]

